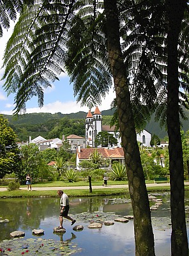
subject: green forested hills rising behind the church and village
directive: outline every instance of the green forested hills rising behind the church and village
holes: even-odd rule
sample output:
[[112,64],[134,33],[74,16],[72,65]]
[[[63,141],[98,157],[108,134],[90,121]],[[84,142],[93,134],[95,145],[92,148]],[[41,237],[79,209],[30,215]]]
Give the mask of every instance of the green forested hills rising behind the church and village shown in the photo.
[[[109,125],[114,109],[102,111],[103,124]],[[185,110],[189,118],[189,111]],[[18,118],[11,115],[4,115],[10,122],[10,126],[17,134],[17,141],[27,141],[29,136],[43,136],[46,139],[62,138],[62,135],[77,134],[84,136],[86,112],[77,112],[71,114],[50,113],[31,113],[19,115]],[[183,130],[188,131],[189,121],[183,121]],[[152,116],[150,122],[146,125],[146,130],[151,134],[158,135],[161,139],[167,136],[165,128],[160,129],[160,125],[154,121]]]

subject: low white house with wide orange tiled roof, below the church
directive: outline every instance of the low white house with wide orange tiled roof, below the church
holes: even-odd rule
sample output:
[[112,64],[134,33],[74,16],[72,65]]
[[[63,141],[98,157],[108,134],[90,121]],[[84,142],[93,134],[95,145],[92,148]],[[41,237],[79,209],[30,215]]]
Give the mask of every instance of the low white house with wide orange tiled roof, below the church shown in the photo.
[[114,161],[118,161],[121,164],[125,164],[123,148],[77,148],[76,166],[77,170],[80,170],[79,164],[84,160],[89,160],[91,153],[94,150],[98,150],[102,154],[102,157],[109,160],[109,168]]

